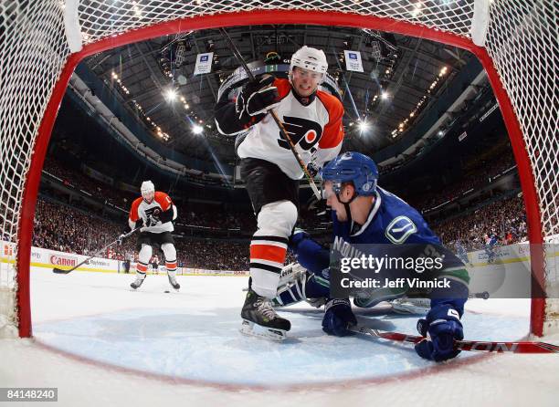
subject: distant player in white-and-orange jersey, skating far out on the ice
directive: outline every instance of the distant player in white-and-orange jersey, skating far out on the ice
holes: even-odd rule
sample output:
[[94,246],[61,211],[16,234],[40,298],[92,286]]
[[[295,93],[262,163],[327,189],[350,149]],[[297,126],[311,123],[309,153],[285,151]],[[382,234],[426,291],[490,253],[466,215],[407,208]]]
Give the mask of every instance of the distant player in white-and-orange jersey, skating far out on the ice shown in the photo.
[[175,290],[181,286],[176,281],[176,249],[171,232],[174,231],[173,221],[176,219],[176,207],[166,193],[155,191],[151,181],[144,181],[141,187],[142,196],[132,202],[128,218],[131,229],[140,227],[137,249],[136,279],[130,287],[137,289],[142,286],[148,264],[153,255],[153,245],[161,246],[165,256],[165,267],[169,284]]

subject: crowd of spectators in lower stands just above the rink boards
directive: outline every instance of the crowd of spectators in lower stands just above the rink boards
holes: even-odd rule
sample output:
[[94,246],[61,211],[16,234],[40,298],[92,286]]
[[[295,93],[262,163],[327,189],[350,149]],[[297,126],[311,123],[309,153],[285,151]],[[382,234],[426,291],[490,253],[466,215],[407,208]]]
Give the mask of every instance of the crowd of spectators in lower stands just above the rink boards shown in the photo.
[[[62,252],[91,255],[121,233],[121,225],[61,203],[39,199],[33,245]],[[496,236],[498,244],[509,245],[526,239],[526,220],[522,198],[491,203],[472,214],[443,221],[433,226],[443,243],[454,247],[458,241],[467,250],[481,249]],[[108,251],[111,258],[137,259],[136,239],[126,240]],[[175,239],[179,266],[214,270],[247,270],[248,240]],[[163,258],[159,249],[154,254]],[[292,259],[289,259],[292,260]]]

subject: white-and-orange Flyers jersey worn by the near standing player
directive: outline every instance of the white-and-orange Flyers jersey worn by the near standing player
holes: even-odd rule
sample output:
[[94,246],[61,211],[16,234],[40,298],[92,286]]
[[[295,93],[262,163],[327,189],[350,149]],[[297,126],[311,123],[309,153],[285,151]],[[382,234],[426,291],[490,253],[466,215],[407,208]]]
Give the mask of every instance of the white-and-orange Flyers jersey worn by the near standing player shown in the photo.
[[[336,157],[343,141],[343,105],[330,93],[318,90],[307,106],[293,95],[288,79],[276,78],[279,104],[274,108],[285,130],[290,134],[305,163],[311,161],[322,167]],[[248,130],[247,137],[237,149],[240,158],[258,158],[273,162],[291,179],[299,180],[303,172],[290,151],[287,141],[280,137],[278,125],[267,114]]]

